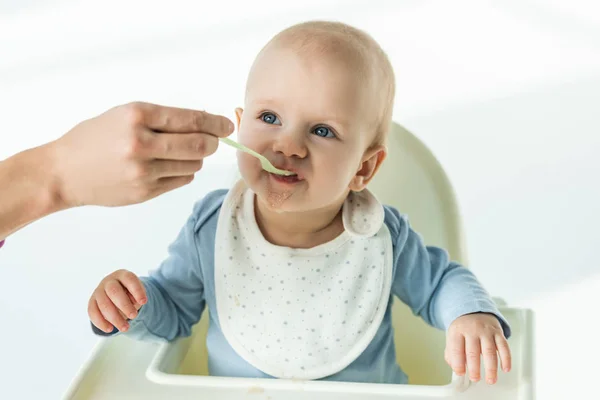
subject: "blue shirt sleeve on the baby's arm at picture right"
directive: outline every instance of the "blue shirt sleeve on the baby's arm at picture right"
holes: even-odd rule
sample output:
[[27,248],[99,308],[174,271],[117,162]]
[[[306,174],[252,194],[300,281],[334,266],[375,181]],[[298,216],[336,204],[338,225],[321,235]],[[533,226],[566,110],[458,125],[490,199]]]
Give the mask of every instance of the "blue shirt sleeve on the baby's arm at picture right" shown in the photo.
[[445,250],[424,245],[396,210],[386,208],[386,219],[394,246],[392,292],[415,315],[447,330],[462,315],[489,313],[498,318],[505,337],[510,337],[508,321],[469,269],[450,261]]

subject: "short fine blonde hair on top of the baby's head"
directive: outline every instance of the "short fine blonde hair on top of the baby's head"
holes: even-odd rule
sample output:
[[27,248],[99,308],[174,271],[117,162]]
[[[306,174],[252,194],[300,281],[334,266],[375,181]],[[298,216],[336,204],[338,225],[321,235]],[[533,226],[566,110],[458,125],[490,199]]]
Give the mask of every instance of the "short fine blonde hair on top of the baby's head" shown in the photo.
[[387,54],[368,33],[341,22],[308,21],[279,32],[260,53],[274,45],[292,46],[300,54],[341,57],[352,63],[361,79],[376,82],[380,104],[372,146],[385,143],[392,121],[396,80]]

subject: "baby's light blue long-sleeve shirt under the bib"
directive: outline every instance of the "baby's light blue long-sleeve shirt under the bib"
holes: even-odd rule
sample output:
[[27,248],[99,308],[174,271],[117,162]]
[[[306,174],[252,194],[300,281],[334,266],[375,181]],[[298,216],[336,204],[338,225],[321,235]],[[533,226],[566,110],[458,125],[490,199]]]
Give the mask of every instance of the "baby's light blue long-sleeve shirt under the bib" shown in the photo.
[[[209,193],[194,206],[192,215],[169,247],[160,267],[141,277],[148,302],[124,333],[140,339],[173,340],[188,336],[202,313],[210,315],[207,348],[213,376],[271,377],[258,370],[229,345],[220,328],[216,306],[215,237],[226,190]],[[451,262],[446,251],[425,246],[407,219],[384,206],[384,223],[391,234],[393,272],[391,295],[383,321],[370,344],[350,365],[324,379],[373,383],[407,383],[396,363],[391,306],[393,296],[407,304],[428,324],[446,330],[458,317],[485,312],[497,316],[504,334],[510,327],[494,302],[467,268]],[[95,328],[95,327],[94,327]],[[98,329],[94,332],[102,334]],[[117,332],[116,329],[113,332]]]

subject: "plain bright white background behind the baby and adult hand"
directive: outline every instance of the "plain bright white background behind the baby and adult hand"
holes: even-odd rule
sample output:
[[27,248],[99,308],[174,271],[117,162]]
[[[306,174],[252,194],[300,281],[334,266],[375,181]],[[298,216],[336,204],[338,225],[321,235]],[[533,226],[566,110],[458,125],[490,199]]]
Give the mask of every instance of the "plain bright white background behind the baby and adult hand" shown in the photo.
[[[365,29],[390,55],[394,118],[447,170],[470,267],[493,295],[536,312],[538,398],[594,397],[597,1],[0,1],[0,159],[132,100],[231,118],[260,47],[314,18]],[[0,398],[61,396],[96,341],[86,315],[95,285],[118,268],[156,267],[233,162],[222,148],[189,187],[63,212],[10,238],[0,251]]]

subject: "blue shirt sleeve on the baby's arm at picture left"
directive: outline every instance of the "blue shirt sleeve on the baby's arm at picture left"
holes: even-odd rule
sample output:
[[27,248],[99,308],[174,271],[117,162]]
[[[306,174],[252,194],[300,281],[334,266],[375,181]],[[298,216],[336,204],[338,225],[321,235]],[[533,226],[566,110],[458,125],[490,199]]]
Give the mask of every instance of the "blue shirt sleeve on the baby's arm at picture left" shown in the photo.
[[204,283],[198,255],[197,225],[202,201],[194,207],[184,227],[168,248],[168,256],[149,276],[140,277],[148,302],[138,316],[129,321],[129,330],[115,328],[104,333],[92,325],[100,336],[124,334],[137,340],[170,341],[189,336],[205,308]]

